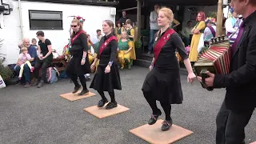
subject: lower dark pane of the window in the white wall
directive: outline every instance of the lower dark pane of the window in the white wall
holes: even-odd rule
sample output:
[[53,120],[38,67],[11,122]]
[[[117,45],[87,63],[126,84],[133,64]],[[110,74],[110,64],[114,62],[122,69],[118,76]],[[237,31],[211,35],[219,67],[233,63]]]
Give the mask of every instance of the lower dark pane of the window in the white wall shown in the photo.
[[30,20],[30,29],[35,29],[35,30],[62,29],[62,21]]

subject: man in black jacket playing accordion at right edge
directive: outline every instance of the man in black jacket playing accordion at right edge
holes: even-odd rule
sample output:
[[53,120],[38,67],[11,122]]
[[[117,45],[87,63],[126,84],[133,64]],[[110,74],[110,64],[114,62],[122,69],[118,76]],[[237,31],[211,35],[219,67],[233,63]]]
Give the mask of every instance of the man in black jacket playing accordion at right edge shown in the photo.
[[230,74],[208,72],[206,78],[206,86],[226,88],[216,118],[217,144],[245,143],[245,127],[256,107],[256,1],[231,0],[230,6],[244,18],[231,47]]

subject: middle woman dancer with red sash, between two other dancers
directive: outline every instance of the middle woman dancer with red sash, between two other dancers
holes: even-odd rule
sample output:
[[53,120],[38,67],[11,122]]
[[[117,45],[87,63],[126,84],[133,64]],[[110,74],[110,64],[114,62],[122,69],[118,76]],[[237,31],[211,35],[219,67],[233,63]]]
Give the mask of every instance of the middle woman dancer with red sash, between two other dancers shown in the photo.
[[102,30],[106,35],[102,37],[99,43],[100,47],[97,58],[90,66],[91,70],[94,70],[96,62],[99,60],[98,69],[91,82],[90,88],[97,90],[98,94],[102,97],[98,102],[98,107],[102,107],[108,102],[103,92],[108,91],[111,102],[106,105],[106,110],[110,110],[118,106],[114,98],[114,89],[122,90],[117,65],[118,39],[114,36],[114,23],[112,21],[104,21],[102,23]]

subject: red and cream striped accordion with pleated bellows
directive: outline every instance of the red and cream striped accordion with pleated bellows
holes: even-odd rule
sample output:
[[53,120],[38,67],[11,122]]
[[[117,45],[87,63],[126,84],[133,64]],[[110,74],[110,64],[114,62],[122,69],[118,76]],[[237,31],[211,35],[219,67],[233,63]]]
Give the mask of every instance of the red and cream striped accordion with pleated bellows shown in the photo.
[[230,71],[230,42],[224,35],[212,38],[209,49],[198,56],[194,63],[194,70],[202,77],[201,85],[206,90],[214,90],[213,87],[205,86],[205,78],[209,76],[207,71],[213,74],[229,74]]

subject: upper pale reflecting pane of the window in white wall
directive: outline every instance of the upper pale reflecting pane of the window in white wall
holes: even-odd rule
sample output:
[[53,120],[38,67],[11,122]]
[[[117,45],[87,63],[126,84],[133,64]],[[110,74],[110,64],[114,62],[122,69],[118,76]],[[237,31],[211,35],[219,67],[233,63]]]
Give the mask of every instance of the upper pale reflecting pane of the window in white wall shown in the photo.
[[30,19],[62,19],[60,12],[30,11]]

